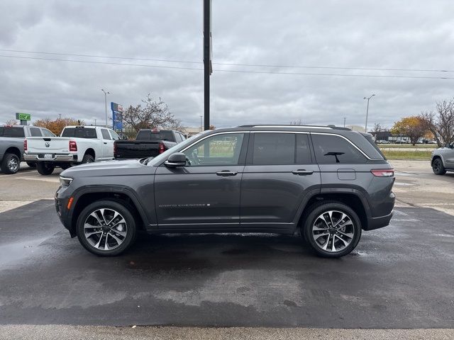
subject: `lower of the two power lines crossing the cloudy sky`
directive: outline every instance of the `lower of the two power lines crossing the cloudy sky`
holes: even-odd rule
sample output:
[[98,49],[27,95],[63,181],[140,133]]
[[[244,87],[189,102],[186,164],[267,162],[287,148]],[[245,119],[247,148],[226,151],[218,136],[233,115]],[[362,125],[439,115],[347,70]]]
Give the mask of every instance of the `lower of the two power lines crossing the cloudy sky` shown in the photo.
[[[135,67],[157,67],[162,69],[194,69],[203,71],[194,67],[175,67],[175,66],[162,66],[150,64],[126,64],[122,62],[95,62],[92,60],[69,60],[69,59],[55,59],[55,58],[41,58],[41,57],[21,57],[18,55],[0,55],[0,57],[7,57],[13,59],[26,59],[26,60],[48,60],[52,62],[82,62],[85,64],[109,64],[121,66],[135,66]],[[378,75],[378,74],[328,74],[328,73],[299,73],[299,72],[271,72],[271,71],[247,71],[239,69],[216,69],[216,72],[235,72],[235,73],[254,73],[254,74],[287,74],[287,75],[304,75],[304,76],[321,76],[321,77],[372,77],[372,78],[409,78],[409,79],[454,79],[454,77],[419,77],[419,76],[392,76],[392,75]]]

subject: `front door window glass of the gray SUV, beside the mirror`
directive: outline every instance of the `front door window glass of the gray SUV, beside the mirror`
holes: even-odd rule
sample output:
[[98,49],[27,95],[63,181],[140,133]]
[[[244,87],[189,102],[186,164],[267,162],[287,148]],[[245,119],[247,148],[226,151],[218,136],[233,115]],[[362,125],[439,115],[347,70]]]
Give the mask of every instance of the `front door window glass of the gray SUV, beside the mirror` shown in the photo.
[[243,133],[226,133],[196,143],[184,151],[188,165],[237,165],[243,137]]

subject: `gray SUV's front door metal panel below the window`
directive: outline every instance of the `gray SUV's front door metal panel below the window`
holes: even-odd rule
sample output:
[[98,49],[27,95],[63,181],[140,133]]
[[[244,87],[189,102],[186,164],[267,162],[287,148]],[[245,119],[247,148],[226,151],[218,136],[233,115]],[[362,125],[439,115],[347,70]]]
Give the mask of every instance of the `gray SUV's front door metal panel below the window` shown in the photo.
[[[155,176],[157,223],[165,228],[239,227],[244,165],[160,166]],[[216,172],[232,171],[234,176]]]

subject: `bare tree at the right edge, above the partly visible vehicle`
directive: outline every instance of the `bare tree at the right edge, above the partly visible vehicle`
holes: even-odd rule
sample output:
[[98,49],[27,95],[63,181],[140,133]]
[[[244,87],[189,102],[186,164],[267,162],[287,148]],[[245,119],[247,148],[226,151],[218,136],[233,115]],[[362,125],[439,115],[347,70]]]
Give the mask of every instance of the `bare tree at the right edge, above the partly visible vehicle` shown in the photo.
[[426,111],[419,116],[426,128],[435,136],[438,147],[454,142],[454,101],[441,101],[436,111]]

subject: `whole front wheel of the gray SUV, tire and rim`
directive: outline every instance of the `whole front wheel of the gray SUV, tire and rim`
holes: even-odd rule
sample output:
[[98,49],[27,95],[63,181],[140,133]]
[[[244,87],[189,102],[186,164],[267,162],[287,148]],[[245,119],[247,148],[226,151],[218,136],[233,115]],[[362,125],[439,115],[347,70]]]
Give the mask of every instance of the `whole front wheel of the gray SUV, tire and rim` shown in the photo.
[[77,218],[79,242],[92,254],[116,256],[135,241],[135,220],[128,205],[114,200],[98,200]]

